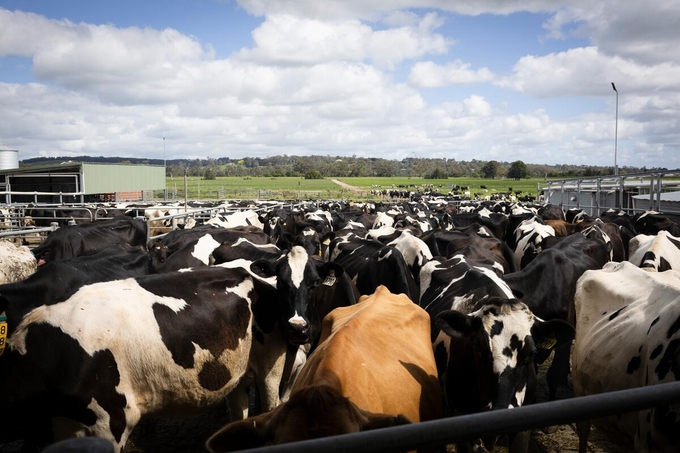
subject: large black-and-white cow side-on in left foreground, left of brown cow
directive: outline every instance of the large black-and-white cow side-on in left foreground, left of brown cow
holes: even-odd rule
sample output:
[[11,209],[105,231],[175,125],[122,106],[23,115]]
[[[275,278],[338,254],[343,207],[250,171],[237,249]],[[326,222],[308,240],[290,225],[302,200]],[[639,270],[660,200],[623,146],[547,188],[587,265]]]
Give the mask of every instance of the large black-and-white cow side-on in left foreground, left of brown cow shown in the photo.
[[119,452],[142,417],[218,404],[246,374],[273,409],[286,340],[268,291],[244,269],[206,267],[95,283],[47,305],[1,295],[0,383],[14,390],[0,401],[12,414],[0,439],[96,436]]

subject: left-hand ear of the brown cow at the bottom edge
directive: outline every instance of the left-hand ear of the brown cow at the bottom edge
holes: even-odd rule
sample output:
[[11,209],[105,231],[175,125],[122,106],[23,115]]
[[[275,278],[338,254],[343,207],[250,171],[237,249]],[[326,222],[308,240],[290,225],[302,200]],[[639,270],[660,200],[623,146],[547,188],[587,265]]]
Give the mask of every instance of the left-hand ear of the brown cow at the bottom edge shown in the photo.
[[229,423],[210,436],[205,447],[212,453],[263,447],[270,442],[266,428],[271,417],[272,413],[267,412]]

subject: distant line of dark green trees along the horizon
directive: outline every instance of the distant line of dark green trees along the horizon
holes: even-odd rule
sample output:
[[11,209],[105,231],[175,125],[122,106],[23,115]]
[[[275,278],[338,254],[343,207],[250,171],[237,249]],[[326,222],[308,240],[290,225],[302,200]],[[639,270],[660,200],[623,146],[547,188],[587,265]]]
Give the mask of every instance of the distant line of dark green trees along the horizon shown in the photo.
[[[38,157],[25,159],[20,167],[28,165],[56,164],[63,161],[116,163],[135,165],[163,165],[163,159],[144,159],[130,157]],[[456,159],[430,159],[408,157],[402,160],[391,160],[380,157],[360,156],[271,156],[242,158],[207,158],[207,159],[169,159],[166,163],[166,175],[179,177],[186,172],[188,176],[199,176],[214,179],[220,176],[295,176],[308,179],[325,177],[392,177],[411,176],[426,179],[446,179],[449,177],[469,178],[509,178],[523,179],[530,177],[544,178],[576,178],[605,176],[614,174],[613,166],[588,165],[547,165],[528,164],[521,160],[512,162],[484,161],[473,159],[460,161]],[[642,173],[646,171],[667,170],[666,168],[620,167],[620,174]]]

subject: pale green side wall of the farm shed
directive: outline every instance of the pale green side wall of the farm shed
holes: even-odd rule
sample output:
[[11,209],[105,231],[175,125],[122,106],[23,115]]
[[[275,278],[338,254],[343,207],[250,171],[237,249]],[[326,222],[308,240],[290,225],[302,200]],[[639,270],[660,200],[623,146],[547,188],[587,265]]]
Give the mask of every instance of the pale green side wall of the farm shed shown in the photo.
[[83,193],[165,189],[165,167],[151,165],[82,164]]

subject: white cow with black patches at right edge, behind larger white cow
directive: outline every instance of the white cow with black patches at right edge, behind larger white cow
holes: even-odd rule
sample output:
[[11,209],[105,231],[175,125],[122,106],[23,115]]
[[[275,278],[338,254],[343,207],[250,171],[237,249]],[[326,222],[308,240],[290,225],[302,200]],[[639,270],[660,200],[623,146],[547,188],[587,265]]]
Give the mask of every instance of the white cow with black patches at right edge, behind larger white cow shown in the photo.
[[680,271],[680,238],[668,231],[656,235],[638,234],[630,241],[628,261],[647,271]]

